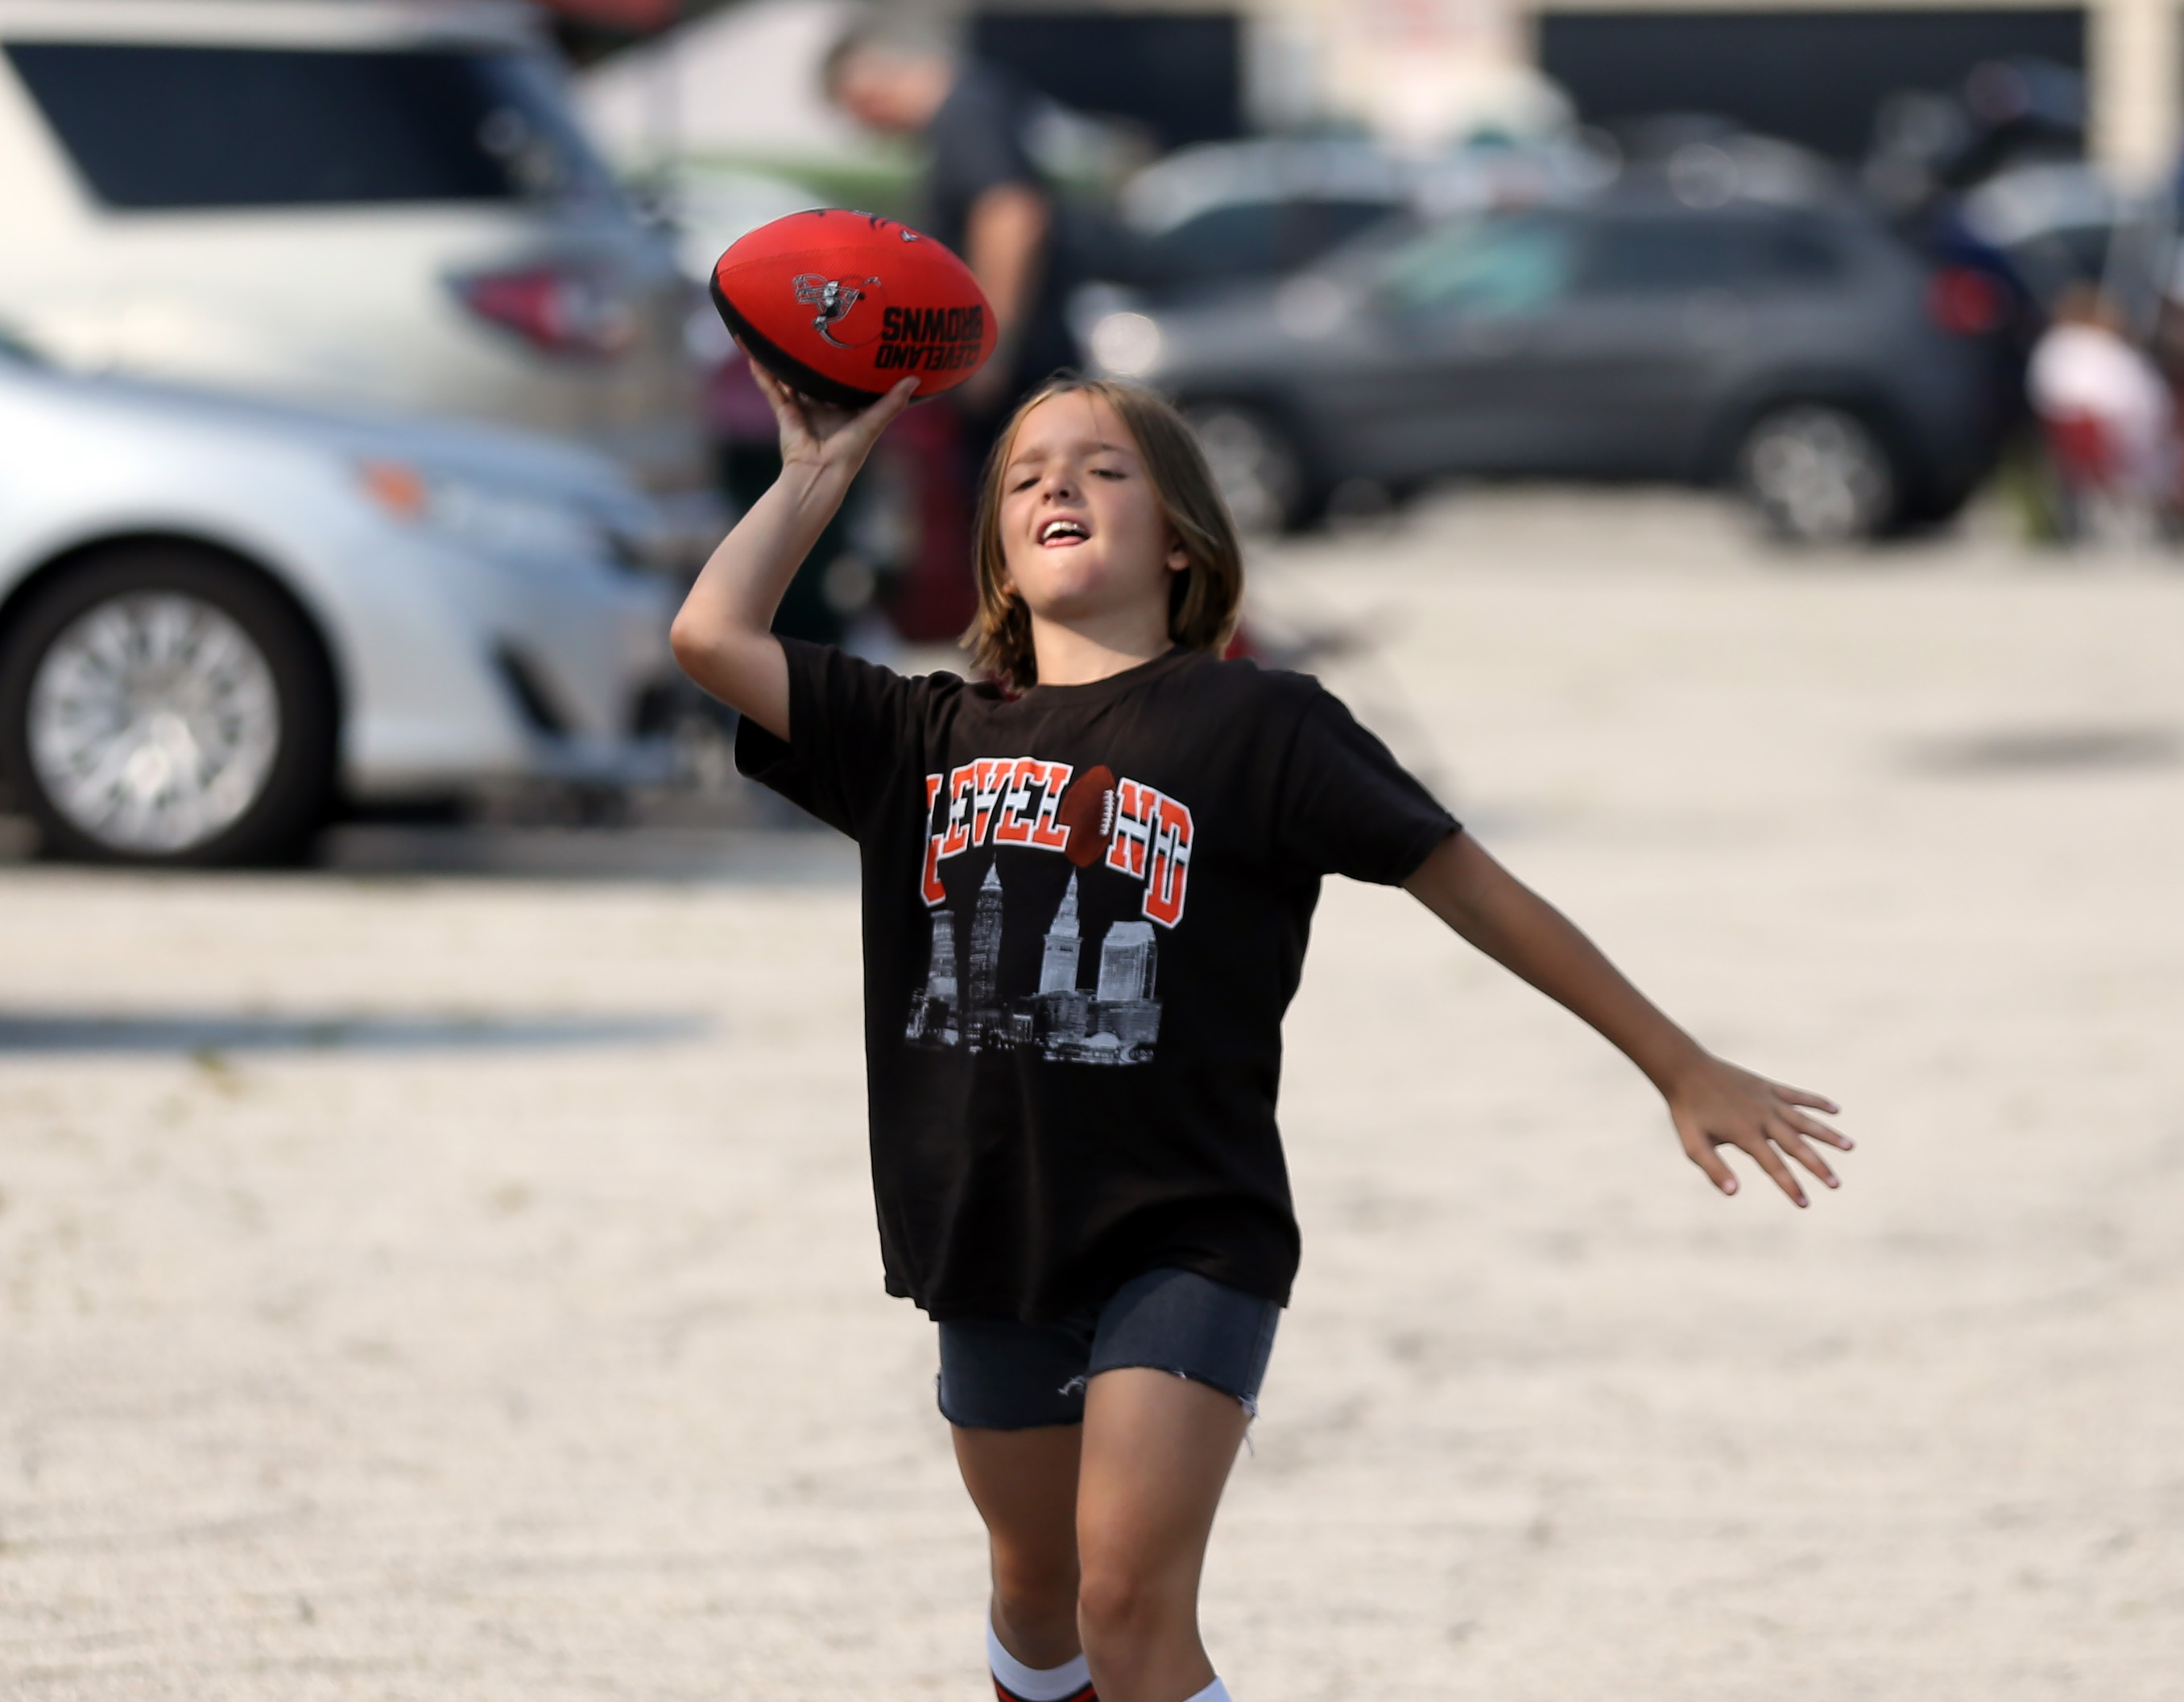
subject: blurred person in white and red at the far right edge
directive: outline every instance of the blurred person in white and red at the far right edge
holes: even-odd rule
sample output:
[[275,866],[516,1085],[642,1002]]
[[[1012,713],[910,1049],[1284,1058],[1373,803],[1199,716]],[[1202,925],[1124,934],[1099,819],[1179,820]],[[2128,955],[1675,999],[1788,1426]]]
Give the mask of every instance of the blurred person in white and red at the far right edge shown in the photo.
[[2121,529],[2143,537],[2175,513],[2175,395],[2094,284],[2055,299],[2033,345],[2027,391],[2062,487],[2064,537]]

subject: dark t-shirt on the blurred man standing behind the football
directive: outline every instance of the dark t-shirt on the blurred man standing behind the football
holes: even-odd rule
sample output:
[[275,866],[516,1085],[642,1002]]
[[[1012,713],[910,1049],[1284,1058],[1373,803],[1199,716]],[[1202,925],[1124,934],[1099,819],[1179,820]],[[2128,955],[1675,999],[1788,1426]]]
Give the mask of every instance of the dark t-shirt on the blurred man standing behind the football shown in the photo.
[[[939,111],[926,125],[924,229],[965,260],[970,258],[972,203],[1002,184],[1026,184],[1048,201],[1046,245],[1040,253],[1037,288],[1024,323],[1016,328],[1016,385],[1035,385],[1055,367],[1077,361],[1064,302],[1077,280],[1061,275],[1061,247],[1055,243],[1059,208],[1024,149],[1024,125],[1031,103],[1022,87],[992,66],[976,61],[957,70],[954,85]],[[1009,404],[1013,404],[1013,395]]]

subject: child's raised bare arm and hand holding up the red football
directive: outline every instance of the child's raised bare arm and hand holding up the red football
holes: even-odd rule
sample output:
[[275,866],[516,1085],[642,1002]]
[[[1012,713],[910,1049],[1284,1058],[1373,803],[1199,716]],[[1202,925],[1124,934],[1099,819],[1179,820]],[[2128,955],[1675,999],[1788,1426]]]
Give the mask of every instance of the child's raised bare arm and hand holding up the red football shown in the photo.
[[773,610],[880,433],[917,389],[904,378],[863,413],[821,409],[791,395],[756,363],[751,376],[782,422],[782,476],[721,540],[668,631],[675,660],[699,686],[788,736],[788,662],[773,636]]

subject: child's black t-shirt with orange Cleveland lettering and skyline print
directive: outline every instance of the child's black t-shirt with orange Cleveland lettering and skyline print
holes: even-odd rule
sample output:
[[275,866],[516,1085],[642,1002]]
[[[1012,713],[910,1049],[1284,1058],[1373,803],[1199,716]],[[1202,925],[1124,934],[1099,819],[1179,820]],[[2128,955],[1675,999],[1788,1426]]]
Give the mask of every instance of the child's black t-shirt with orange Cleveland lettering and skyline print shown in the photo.
[[782,640],[745,773],[863,850],[887,1289],[1055,1317],[1147,1269],[1289,1300],[1282,1012],[1324,874],[1450,832],[1321,686],[1173,649],[1007,697]]

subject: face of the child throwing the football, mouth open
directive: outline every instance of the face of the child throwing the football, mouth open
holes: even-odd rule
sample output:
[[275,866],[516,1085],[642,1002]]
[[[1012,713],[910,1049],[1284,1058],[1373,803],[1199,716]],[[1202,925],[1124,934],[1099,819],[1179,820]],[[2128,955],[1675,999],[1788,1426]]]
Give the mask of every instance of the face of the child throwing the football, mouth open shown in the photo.
[[1000,492],[1002,562],[1035,618],[1136,614],[1166,631],[1168,575],[1190,557],[1112,406],[1079,393],[1026,413]]

